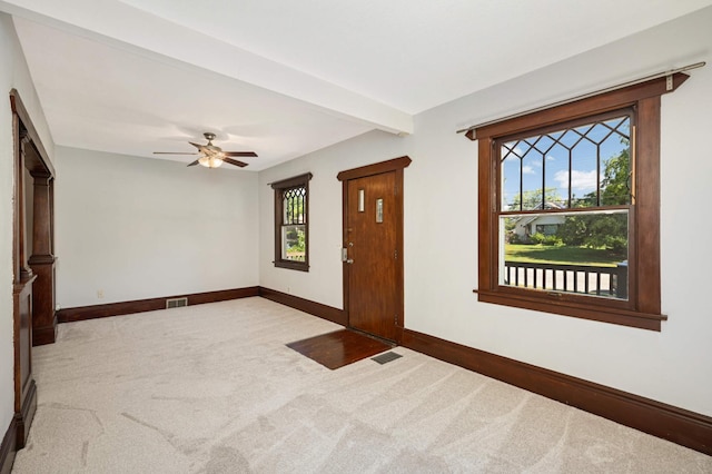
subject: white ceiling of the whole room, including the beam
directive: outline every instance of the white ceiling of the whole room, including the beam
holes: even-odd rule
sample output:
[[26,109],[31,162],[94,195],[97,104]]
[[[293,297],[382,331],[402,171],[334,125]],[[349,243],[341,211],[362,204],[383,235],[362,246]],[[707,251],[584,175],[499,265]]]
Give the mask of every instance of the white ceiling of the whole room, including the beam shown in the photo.
[[[0,0],[57,145],[259,170],[712,0]],[[160,156],[184,162],[186,156]],[[222,169],[222,168],[221,168]]]

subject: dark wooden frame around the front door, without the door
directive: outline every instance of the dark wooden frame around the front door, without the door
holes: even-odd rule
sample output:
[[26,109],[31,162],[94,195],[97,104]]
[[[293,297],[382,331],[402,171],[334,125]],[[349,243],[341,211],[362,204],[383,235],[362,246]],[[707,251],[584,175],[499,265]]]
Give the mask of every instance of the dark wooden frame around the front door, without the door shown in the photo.
[[[395,171],[396,180],[396,249],[400,258],[396,265],[396,295],[398,300],[397,309],[398,317],[396,319],[396,343],[400,344],[403,340],[403,327],[405,324],[405,303],[404,303],[404,253],[403,253],[403,170],[411,165],[412,159],[407,156],[394,158],[387,161],[380,161],[374,165],[366,165],[358,168],[347,169],[336,175],[336,178],[342,181],[342,246],[346,247],[348,240],[348,181],[352,179],[366,178],[374,175],[382,175],[385,172]],[[346,320],[350,326],[349,315],[349,271],[347,264],[343,265],[343,282],[344,282],[344,313],[346,314]]]

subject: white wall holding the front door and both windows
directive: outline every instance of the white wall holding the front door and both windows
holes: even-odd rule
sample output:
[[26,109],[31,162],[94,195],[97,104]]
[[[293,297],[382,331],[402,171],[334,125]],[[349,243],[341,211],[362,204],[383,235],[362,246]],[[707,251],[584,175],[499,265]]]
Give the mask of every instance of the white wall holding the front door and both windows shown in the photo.
[[[407,139],[367,134],[263,171],[260,285],[343,307],[336,172],[409,155],[407,328],[712,415],[712,309],[705,295],[712,229],[700,214],[712,177],[704,142],[712,129],[712,65],[692,71],[663,98],[662,306],[670,319],[661,333],[477,303],[477,146],[455,134],[660,70],[712,62],[710,24],[712,8],[423,112]],[[304,171],[315,176],[308,274],[271,267],[273,197],[266,186]]]

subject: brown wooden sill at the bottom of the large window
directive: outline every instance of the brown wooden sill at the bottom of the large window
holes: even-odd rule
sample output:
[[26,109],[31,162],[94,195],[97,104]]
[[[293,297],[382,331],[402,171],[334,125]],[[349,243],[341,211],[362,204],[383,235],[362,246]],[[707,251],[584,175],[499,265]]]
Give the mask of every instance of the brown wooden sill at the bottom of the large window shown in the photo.
[[491,290],[473,290],[477,294],[477,300],[495,305],[512,306],[515,308],[533,309],[537,312],[572,316],[582,319],[597,320],[602,323],[617,324],[621,326],[636,327],[640,329],[661,330],[661,322],[666,320],[665,315],[639,313],[629,309],[613,308],[603,305],[583,305],[571,302],[554,302],[525,295],[511,295]]

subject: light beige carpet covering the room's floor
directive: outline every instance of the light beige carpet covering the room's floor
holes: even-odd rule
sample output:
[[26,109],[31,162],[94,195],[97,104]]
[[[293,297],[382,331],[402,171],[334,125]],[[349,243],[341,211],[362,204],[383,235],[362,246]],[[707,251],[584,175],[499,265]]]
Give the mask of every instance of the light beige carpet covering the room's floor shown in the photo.
[[710,473],[712,457],[416,352],[337,371],[339,326],[263,298],[59,326],[14,473]]

